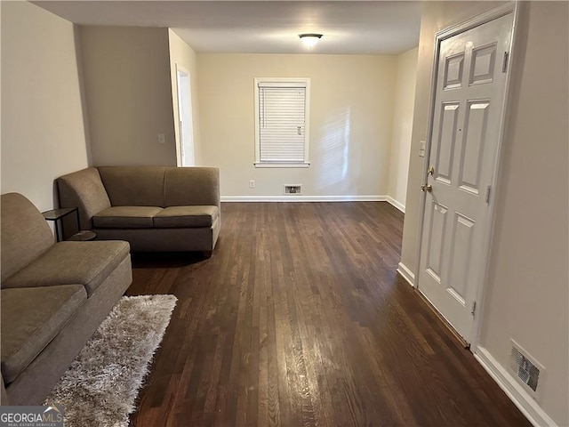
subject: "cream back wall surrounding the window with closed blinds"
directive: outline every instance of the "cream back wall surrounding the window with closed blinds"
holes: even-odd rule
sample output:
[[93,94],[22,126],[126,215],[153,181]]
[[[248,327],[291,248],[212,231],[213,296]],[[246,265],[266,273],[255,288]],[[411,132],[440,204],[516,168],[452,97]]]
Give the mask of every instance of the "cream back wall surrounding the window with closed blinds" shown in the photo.
[[[202,161],[224,197],[387,195],[396,57],[198,53]],[[310,77],[308,169],[255,168],[254,77]],[[249,189],[249,180],[256,182]]]

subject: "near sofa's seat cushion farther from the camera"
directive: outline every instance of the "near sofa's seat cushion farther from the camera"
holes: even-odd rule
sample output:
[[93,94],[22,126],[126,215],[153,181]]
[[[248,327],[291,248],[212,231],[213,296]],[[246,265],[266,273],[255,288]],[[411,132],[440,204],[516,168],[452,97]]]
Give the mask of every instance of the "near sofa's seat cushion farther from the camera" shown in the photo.
[[129,253],[129,244],[118,240],[56,243],[28,267],[4,280],[2,287],[79,283],[91,296]]

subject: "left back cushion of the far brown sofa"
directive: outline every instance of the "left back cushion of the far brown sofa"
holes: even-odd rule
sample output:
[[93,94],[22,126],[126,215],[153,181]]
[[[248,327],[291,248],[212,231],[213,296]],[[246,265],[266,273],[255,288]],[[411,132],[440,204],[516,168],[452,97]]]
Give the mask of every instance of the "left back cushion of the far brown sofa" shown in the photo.
[[100,166],[113,206],[164,207],[164,166]]

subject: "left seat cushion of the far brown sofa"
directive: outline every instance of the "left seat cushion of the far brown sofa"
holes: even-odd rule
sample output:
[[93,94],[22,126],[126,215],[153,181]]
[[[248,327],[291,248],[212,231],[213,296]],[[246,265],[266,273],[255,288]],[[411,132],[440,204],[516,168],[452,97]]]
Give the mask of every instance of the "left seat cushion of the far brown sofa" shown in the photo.
[[100,229],[151,229],[160,211],[157,206],[113,206],[94,215],[92,223]]

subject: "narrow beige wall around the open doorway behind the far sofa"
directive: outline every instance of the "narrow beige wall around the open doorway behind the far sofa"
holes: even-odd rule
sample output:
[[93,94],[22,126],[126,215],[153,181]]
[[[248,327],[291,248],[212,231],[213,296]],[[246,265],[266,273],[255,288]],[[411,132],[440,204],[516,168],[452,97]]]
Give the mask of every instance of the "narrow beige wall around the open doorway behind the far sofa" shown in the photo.
[[[184,42],[180,36],[168,29],[170,41],[170,78],[172,80],[172,103],[174,124],[179,122],[178,113],[178,80],[176,76],[176,65],[189,73],[189,85],[192,105],[192,128],[194,141],[194,156],[196,165],[201,164],[201,145],[199,132],[199,102],[197,98],[197,58],[196,52]],[[180,127],[174,125],[176,141],[176,159],[180,160]]]

